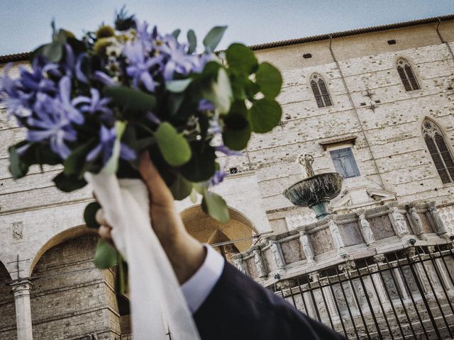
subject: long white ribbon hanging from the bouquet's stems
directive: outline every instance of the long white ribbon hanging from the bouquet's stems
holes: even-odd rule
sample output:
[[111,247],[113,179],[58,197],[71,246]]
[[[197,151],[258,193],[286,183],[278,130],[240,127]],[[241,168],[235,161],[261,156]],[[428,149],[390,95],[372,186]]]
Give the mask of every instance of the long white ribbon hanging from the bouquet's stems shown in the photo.
[[198,340],[199,334],[170,261],[150,224],[147,188],[140,179],[86,174],[112,239],[128,261],[134,340]]

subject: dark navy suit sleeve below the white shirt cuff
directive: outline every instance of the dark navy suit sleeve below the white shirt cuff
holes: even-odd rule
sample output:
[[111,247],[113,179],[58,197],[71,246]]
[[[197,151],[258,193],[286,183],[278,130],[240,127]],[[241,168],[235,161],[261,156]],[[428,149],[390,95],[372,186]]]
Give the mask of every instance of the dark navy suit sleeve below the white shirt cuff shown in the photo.
[[344,339],[228,263],[194,320],[202,340]]

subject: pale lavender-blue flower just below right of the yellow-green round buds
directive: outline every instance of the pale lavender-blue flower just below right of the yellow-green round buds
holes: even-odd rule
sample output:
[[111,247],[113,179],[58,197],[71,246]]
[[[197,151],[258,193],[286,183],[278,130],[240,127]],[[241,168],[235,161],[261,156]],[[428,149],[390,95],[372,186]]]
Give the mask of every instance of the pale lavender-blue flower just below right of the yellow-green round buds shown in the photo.
[[145,47],[138,40],[126,44],[123,51],[128,59],[126,73],[129,77],[133,78],[133,85],[135,88],[138,88],[140,84],[143,84],[145,89],[153,92],[155,91],[156,84],[150,73],[150,69],[161,64],[162,56],[148,57],[145,52]]

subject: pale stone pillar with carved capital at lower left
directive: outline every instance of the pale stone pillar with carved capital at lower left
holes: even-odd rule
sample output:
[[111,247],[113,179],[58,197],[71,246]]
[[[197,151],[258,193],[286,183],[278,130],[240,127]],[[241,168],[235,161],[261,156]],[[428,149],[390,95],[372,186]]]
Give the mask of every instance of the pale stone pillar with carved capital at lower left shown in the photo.
[[16,324],[18,340],[33,340],[31,324],[30,290],[31,282],[21,279],[11,284],[16,302]]

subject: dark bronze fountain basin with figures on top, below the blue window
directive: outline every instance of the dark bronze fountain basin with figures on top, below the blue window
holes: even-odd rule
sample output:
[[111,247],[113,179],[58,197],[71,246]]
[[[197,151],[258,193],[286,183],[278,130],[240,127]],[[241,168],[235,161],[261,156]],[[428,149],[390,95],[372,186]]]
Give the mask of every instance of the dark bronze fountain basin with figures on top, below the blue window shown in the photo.
[[337,172],[314,174],[310,154],[300,154],[298,162],[306,169],[307,178],[285,189],[284,196],[294,205],[311,208],[317,220],[322,220],[329,215],[329,202],[341,193],[343,176]]

